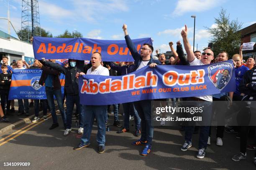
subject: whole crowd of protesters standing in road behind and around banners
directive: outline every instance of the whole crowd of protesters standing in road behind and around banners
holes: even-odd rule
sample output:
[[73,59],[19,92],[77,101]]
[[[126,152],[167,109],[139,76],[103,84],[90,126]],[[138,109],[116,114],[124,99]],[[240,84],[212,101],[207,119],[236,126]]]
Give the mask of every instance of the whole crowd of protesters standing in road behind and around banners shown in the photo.
[[[218,55],[214,55],[212,49],[207,48],[202,53],[200,51],[192,51],[191,45],[187,37],[187,26],[182,30],[181,35],[183,39],[184,49],[187,53],[187,57],[184,55],[182,43],[177,42],[177,49],[174,50],[174,43],[169,42],[170,49],[174,57],[166,63],[166,56],[156,50],[157,56],[152,57],[154,48],[150,44],[143,44],[140,48],[140,52],[137,51],[130,36],[128,35],[127,25],[123,25],[123,32],[125,35],[125,41],[134,62],[102,62],[104,56],[100,52],[94,52],[91,56],[90,64],[85,65],[83,60],[69,59],[68,63],[64,66],[55,63],[54,60],[35,60],[33,65],[29,65],[23,60],[18,60],[16,63],[13,61],[9,66],[8,57],[3,57],[3,64],[1,66],[0,74],[0,97],[1,97],[1,110],[0,116],[2,121],[8,121],[5,116],[13,112],[14,103],[8,100],[8,92],[10,89],[11,73],[13,69],[41,69],[42,75],[39,81],[40,85],[44,85],[46,88],[47,100],[34,100],[35,103],[35,116],[32,122],[37,122],[40,118],[38,116],[39,103],[43,106],[44,120],[47,120],[47,107],[51,112],[53,123],[49,128],[54,129],[59,126],[56,116],[56,109],[54,104],[54,95],[56,97],[59,110],[61,113],[64,136],[69,135],[72,131],[72,113],[74,112],[74,105],[76,105],[76,112],[79,115],[79,129],[78,134],[83,134],[79,145],[74,147],[74,150],[79,150],[90,145],[90,135],[92,131],[92,125],[97,121],[97,143],[98,152],[103,153],[105,151],[105,134],[106,126],[108,122],[108,108],[107,105],[81,105],[79,98],[78,77],[81,75],[126,75],[143,67],[149,66],[151,68],[158,65],[208,65],[214,62],[222,62],[229,59],[229,55],[225,51],[220,51]],[[233,65],[236,72],[236,91],[225,92],[214,95],[187,97],[188,101],[200,101],[212,102],[212,101],[224,101],[227,98],[233,101],[242,100],[256,100],[256,67],[255,60],[248,58],[246,63],[243,62],[242,47],[240,47],[239,54],[233,55]],[[171,68],[171,67],[170,67]],[[61,96],[61,83],[59,79],[60,73],[65,75],[65,103],[67,110],[64,109],[64,99]],[[5,112],[6,104],[6,112]],[[28,99],[18,100],[18,115],[29,115],[29,103]],[[152,140],[154,134],[154,126],[151,124],[151,100],[140,100],[136,102],[123,103],[124,111],[124,125],[122,126],[119,121],[119,104],[114,104],[114,123],[113,125],[120,128],[117,133],[126,133],[130,130],[129,120],[130,117],[134,117],[135,121],[135,135],[141,136],[138,140],[134,141],[132,145],[144,145],[144,149],[141,155],[146,156],[152,150]],[[220,107],[214,107],[209,105],[205,108],[207,112],[219,112]],[[199,145],[197,158],[204,158],[206,154],[207,145],[211,143],[211,126],[185,126],[183,127],[184,144],[181,147],[182,151],[187,151],[192,147],[192,135],[200,129]],[[241,138],[240,152],[232,157],[232,160],[239,161],[246,158],[246,146],[247,146],[247,134],[248,126],[234,126],[225,128],[224,126],[217,127],[216,145],[223,146],[223,133],[224,130],[228,133],[239,132],[239,138]],[[238,134],[238,133],[237,133]],[[256,142],[256,141],[255,141]],[[255,150],[256,143],[248,146],[248,148]],[[253,159],[256,164],[256,155]]]

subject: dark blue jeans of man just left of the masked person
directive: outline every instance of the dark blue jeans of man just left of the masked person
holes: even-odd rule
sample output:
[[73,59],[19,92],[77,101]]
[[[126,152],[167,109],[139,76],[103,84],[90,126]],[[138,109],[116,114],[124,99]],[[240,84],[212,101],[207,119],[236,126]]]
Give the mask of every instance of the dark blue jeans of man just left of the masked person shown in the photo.
[[53,123],[58,123],[58,118],[56,115],[55,103],[54,103],[54,95],[55,95],[58,106],[59,106],[59,111],[61,112],[61,117],[63,120],[64,127],[66,127],[67,120],[66,120],[66,113],[64,110],[62,95],[61,95],[61,89],[54,90],[53,87],[45,87],[45,92],[46,92],[47,101],[51,110],[51,117],[52,117]]

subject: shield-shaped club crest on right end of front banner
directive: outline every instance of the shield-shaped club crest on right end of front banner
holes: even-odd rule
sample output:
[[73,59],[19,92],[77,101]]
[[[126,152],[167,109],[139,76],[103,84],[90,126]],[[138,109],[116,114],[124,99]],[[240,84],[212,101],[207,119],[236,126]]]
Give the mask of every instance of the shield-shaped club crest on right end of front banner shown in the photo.
[[222,90],[229,82],[233,66],[228,62],[218,62],[208,67],[209,78],[213,85]]

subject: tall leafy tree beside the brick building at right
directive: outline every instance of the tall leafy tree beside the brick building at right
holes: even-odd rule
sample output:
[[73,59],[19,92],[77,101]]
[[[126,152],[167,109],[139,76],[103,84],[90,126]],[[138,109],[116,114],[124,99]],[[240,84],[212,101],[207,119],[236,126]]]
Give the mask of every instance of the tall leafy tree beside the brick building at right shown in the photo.
[[222,8],[219,17],[215,18],[215,24],[217,25],[216,28],[207,28],[212,34],[212,50],[215,55],[220,51],[228,52],[230,57],[239,53],[241,41],[241,32],[239,30],[242,27],[242,23],[237,19],[230,21],[229,15],[226,15],[226,10]]

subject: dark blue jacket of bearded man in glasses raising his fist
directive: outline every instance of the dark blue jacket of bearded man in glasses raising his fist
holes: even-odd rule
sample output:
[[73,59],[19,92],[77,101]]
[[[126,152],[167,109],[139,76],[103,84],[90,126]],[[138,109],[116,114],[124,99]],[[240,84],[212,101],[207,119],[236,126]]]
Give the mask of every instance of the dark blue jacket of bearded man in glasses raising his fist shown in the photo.
[[[133,59],[135,60],[133,71],[136,71],[136,69],[140,66],[142,61],[141,55],[138,53],[129,35],[125,35],[125,42],[131,52],[131,55],[133,56]],[[150,61],[148,62],[148,65],[150,65],[151,63],[156,63],[157,65],[161,65],[161,62],[159,60],[154,60],[152,56],[150,57]]]

